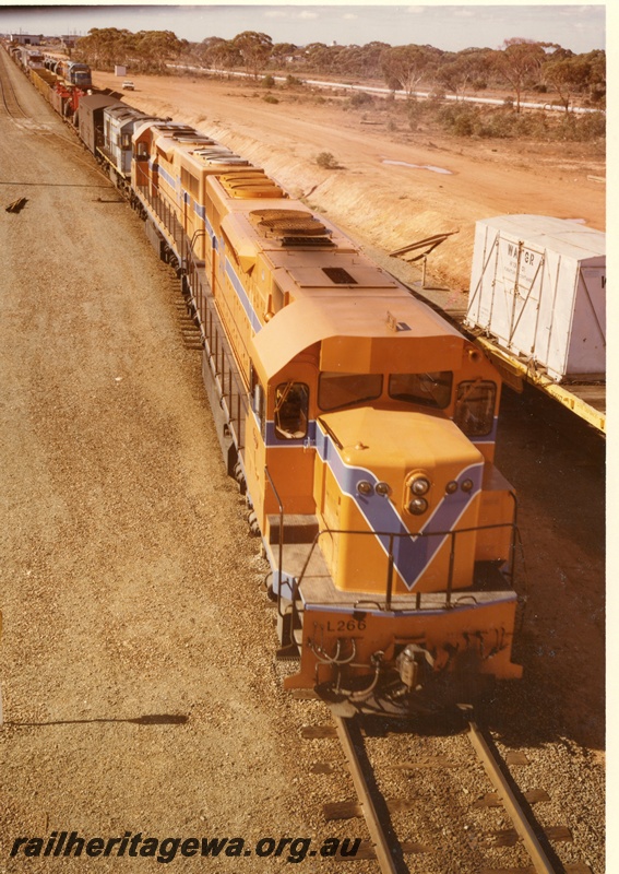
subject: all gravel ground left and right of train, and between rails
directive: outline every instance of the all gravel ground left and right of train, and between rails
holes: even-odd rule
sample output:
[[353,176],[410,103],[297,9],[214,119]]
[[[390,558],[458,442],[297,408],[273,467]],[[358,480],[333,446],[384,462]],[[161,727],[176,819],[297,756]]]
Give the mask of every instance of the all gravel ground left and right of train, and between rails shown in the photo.
[[[242,838],[252,851],[270,837],[312,838],[314,848],[367,839],[362,820],[324,819],[322,804],[354,790],[336,743],[300,735],[329,723],[328,709],[282,689],[291,665],[273,660],[267,568],[225,474],[200,354],[182,341],[178,282],[71,132],[2,52],[0,63],[28,116],[0,116],[2,202],[27,198],[20,213],[0,211],[0,874],[158,866],[129,855],[130,837],[122,859],[10,857],[20,837],[63,830]],[[548,442],[553,432],[517,403],[508,401],[499,465],[520,481],[531,622],[519,645],[525,681],[502,695],[492,729],[532,763],[516,779],[549,793],[535,811],[543,824],[572,830],[561,860],[602,874],[603,563],[591,533],[599,464],[579,466],[575,450]],[[546,463],[533,460],[532,442]],[[564,527],[566,471],[591,498],[580,539]],[[579,676],[585,663],[597,678]],[[463,764],[471,753],[461,741],[437,748]],[[410,755],[405,741],[395,749]],[[455,770],[415,779],[381,777],[386,795],[419,800],[415,816],[398,818],[404,830],[408,822],[403,837],[431,848],[410,871],[473,874],[488,861],[479,834],[488,823],[507,827],[504,814],[454,817],[443,805],[462,786],[467,796],[490,788]],[[457,869],[454,835],[467,847]],[[497,867],[516,857],[490,852]],[[378,872],[374,861],[296,864],[245,849],[207,861],[178,852],[169,864]]]

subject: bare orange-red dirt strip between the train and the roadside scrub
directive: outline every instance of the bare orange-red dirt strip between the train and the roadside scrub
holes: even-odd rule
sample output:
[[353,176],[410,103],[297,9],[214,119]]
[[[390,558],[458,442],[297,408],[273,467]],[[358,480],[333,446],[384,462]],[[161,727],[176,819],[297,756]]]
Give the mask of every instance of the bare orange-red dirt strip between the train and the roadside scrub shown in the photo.
[[[109,73],[94,81],[120,86]],[[371,247],[389,252],[457,232],[428,262],[452,291],[468,287],[479,218],[535,213],[605,229],[604,153],[591,146],[440,139],[403,121],[393,130],[386,113],[345,111],[346,98],[317,103],[316,95],[282,91],[279,103],[269,104],[258,84],[237,81],[138,75],[134,82],[128,103],[210,132]],[[321,152],[341,168],[321,169]]]

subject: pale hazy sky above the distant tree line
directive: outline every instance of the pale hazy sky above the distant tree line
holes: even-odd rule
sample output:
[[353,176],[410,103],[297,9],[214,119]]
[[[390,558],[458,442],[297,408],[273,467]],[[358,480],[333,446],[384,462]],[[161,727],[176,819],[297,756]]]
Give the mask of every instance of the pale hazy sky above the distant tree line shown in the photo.
[[445,51],[499,48],[505,39],[524,37],[558,43],[576,54],[606,47],[606,8],[600,3],[403,5],[311,0],[270,5],[217,4],[19,5],[0,4],[0,33],[46,36],[86,35],[92,27],[128,31],[172,31],[179,38],[202,42],[209,36],[231,39],[242,31],[260,31],[274,43],[366,45],[431,45]]

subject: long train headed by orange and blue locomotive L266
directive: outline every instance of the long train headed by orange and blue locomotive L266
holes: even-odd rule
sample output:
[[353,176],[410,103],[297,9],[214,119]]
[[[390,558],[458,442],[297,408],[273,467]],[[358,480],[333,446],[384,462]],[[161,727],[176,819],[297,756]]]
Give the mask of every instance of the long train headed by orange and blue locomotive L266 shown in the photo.
[[285,686],[401,713],[520,677],[495,367],[263,169],[118,96],[73,121],[182,277]]

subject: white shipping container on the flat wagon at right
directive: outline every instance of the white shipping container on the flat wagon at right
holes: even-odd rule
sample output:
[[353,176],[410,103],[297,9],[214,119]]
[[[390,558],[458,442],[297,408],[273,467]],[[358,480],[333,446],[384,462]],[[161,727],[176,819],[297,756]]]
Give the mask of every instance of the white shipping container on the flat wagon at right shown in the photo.
[[606,373],[606,234],[564,218],[475,225],[465,323],[560,382]]

